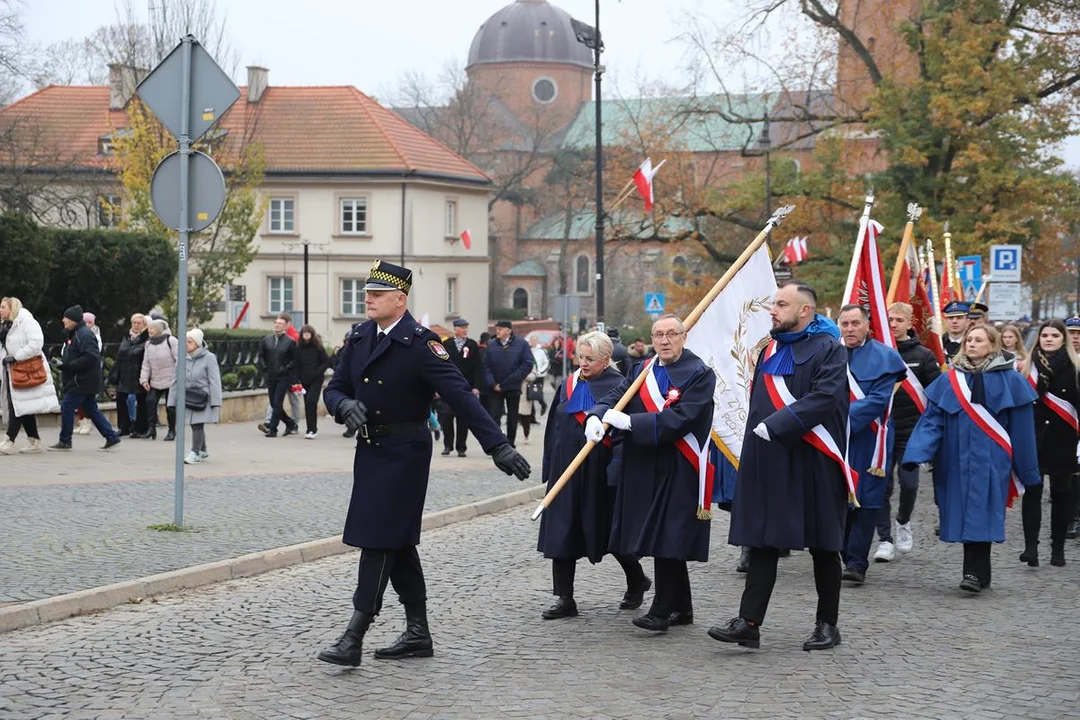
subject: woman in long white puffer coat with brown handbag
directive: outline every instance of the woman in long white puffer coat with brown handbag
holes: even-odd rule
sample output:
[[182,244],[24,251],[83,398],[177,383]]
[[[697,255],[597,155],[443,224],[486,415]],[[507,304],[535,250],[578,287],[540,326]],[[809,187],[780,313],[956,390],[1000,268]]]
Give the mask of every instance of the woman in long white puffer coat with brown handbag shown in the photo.
[[[41,325],[18,298],[0,300],[0,321],[11,323],[3,343],[3,388],[0,390],[8,416],[8,436],[0,440],[0,453],[42,452],[35,416],[59,412],[60,404],[53,373],[41,352],[45,341]],[[16,450],[15,438],[24,429],[30,444]]]

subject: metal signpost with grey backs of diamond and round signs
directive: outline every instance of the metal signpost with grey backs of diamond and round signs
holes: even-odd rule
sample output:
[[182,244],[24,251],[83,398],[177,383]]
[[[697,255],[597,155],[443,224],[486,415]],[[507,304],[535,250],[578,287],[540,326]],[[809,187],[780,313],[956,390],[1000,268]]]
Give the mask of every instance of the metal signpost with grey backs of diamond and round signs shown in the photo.
[[[192,152],[191,144],[240,98],[240,89],[190,35],[139,83],[135,92],[179,141],[153,172],[150,200],[167,227],[179,233],[177,340],[188,332],[188,236],[204,230],[225,206],[225,178],[212,158]],[[176,364],[176,485],[173,522],[184,525],[184,430],[187,392],[186,354]]]

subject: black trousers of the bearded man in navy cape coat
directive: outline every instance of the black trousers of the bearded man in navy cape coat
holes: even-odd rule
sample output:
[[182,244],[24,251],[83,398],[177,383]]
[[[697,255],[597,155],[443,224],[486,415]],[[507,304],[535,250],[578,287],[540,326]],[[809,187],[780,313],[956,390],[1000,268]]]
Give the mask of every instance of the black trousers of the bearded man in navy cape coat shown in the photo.
[[[810,548],[813,558],[813,582],[818,588],[816,620],[836,625],[840,615],[840,554]],[[750,570],[743,590],[739,616],[755,625],[765,622],[772,588],[777,585],[777,562],[780,551],[775,547],[751,547]]]

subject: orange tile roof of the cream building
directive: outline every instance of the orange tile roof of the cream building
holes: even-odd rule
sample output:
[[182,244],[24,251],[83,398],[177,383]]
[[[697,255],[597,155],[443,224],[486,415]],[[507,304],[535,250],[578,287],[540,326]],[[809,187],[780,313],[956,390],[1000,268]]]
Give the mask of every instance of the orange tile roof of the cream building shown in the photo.
[[[127,123],[109,110],[109,89],[49,85],[0,110],[0,127],[12,123],[23,147],[38,148],[33,164],[100,168],[99,138]],[[267,172],[417,173],[470,182],[489,182],[478,167],[352,86],[270,86],[256,104],[247,89],[221,119],[229,138],[247,123],[262,145]],[[27,154],[24,152],[24,155]],[[24,157],[19,164],[26,162]],[[11,162],[10,153],[0,163]]]

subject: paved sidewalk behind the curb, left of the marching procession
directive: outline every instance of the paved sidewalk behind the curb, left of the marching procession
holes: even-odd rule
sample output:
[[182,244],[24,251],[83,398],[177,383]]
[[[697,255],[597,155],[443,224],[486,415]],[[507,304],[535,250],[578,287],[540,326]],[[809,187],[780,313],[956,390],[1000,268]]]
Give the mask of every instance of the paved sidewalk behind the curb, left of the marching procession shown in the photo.
[[[149,529],[173,520],[172,444],[0,456],[0,604],[340,533],[351,475],[327,471],[351,468],[353,440],[327,430],[311,443],[270,440],[251,425],[212,429],[211,462],[193,466],[185,485],[188,532]],[[428,512],[525,487],[470,446],[467,458],[443,458],[436,444]],[[521,449],[539,473],[540,443]],[[222,470],[233,474],[213,474]],[[127,479],[150,472],[158,478]]]

